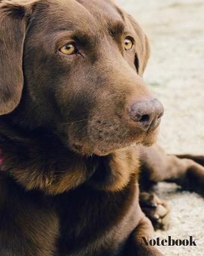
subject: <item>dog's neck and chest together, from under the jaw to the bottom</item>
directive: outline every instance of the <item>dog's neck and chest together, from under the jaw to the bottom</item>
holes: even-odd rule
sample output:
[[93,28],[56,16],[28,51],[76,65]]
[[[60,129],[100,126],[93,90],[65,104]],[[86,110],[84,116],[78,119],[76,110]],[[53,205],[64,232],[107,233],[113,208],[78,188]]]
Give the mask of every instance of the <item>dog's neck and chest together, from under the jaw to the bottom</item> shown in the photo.
[[15,140],[0,145],[0,255],[119,255],[140,218],[136,149],[73,164],[53,138]]

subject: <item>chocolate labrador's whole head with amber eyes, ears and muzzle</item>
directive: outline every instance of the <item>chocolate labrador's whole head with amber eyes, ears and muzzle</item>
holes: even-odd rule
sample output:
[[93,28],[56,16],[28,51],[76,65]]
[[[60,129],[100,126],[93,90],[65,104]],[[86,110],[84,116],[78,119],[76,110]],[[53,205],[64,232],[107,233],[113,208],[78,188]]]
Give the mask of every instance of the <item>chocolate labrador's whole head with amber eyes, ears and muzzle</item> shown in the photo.
[[79,154],[151,144],[163,115],[142,74],[149,43],[108,0],[0,1],[0,115]]

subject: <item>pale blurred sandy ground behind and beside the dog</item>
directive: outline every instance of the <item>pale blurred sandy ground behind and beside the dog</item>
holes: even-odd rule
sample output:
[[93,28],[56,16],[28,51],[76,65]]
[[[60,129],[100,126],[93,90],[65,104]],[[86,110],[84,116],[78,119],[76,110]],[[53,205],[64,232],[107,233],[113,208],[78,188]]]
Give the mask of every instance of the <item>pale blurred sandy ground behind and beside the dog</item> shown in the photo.
[[[158,143],[168,153],[204,154],[204,0],[116,0],[148,35],[151,57],[144,79],[164,104]],[[171,225],[156,236],[193,236],[198,246],[160,248],[165,255],[204,255],[204,200],[159,184]]]

